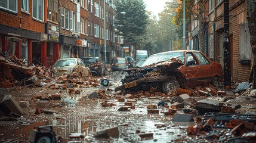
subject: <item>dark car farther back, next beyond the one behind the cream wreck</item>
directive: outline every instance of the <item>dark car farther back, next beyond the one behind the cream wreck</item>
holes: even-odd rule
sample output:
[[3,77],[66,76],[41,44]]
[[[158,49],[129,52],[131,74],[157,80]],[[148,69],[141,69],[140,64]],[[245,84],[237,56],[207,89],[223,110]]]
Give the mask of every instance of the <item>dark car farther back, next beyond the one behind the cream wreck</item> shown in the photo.
[[124,69],[128,69],[128,65],[125,58],[122,58],[122,57],[112,58],[111,69],[112,71],[122,71]]

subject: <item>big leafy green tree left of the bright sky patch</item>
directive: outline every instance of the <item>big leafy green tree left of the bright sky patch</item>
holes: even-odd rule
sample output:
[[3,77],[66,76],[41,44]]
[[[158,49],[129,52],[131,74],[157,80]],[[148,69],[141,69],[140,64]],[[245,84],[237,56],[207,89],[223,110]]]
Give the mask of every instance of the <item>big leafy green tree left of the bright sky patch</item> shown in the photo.
[[126,14],[115,18],[115,26],[120,35],[124,36],[125,43],[139,45],[146,32],[148,15],[143,0],[117,0],[115,2],[116,14],[124,11]]

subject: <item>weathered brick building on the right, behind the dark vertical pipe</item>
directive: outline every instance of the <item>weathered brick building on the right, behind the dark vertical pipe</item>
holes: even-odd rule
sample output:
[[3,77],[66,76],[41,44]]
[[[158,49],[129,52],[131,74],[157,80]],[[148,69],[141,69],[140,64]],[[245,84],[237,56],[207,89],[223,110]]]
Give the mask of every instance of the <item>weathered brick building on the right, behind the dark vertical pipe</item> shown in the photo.
[[[205,10],[203,52],[224,67],[224,2],[210,0],[206,2]],[[251,70],[252,52],[246,12],[245,0],[229,1],[231,76],[237,82],[248,81]]]

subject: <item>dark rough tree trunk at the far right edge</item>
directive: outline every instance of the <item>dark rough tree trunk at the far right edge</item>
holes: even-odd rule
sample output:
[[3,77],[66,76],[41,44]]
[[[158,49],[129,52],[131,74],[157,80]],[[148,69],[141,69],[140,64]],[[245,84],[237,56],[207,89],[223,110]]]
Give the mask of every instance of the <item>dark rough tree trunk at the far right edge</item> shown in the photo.
[[254,62],[253,62],[253,75],[250,79],[253,83],[253,89],[256,89],[256,0],[247,0],[247,20],[248,20],[248,28],[251,35],[251,48],[252,54],[254,55]]

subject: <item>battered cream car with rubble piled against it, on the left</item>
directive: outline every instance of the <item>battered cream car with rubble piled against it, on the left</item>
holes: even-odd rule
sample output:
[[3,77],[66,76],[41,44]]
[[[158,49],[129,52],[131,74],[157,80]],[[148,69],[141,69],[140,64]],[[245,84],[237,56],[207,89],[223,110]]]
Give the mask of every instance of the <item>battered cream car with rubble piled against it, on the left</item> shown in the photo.
[[63,58],[57,60],[52,68],[53,74],[74,74],[81,77],[91,77],[91,70],[86,67],[80,58]]

